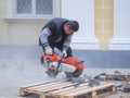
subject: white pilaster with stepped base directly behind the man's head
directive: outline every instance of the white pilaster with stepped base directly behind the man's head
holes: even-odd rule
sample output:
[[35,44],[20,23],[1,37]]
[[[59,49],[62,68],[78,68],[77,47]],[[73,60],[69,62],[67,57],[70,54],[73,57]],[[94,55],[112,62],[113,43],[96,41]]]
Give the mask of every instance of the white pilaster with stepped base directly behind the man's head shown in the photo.
[[75,49],[100,49],[94,34],[94,0],[63,0],[62,16],[79,21],[80,28],[72,44]]

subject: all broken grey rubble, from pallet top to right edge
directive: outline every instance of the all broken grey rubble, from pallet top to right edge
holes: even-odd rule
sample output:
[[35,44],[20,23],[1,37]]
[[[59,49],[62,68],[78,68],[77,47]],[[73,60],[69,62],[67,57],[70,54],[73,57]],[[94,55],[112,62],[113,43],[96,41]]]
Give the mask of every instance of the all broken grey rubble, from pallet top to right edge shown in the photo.
[[84,82],[89,83],[89,86],[100,85],[101,82],[115,82],[116,90],[120,90],[123,93],[130,93],[130,73],[122,74],[119,71],[115,71],[114,73],[101,73],[94,77],[88,78],[87,75],[83,77],[73,77],[72,82],[77,83],[76,87]]

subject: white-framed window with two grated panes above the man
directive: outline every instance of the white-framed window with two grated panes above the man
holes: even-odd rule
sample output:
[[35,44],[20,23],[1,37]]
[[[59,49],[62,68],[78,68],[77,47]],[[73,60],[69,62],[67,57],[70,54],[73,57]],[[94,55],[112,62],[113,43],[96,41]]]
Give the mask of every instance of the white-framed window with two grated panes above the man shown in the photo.
[[9,0],[9,12],[12,17],[60,16],[60,0]]

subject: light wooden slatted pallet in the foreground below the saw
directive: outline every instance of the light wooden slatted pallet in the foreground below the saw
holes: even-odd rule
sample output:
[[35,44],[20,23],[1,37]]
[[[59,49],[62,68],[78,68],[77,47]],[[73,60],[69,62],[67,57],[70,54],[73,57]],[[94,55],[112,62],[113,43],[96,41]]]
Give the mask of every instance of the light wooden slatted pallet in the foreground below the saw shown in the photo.
[[[39,83],[20,87],[20,95],[26,96],[28,94],[39,95],[40,98],[76,98],[78,96],[89,96],[89,98],[101,98],[104,94],[115,93],[115,84],[110,82],[102,82],[100,85],[89,86],[89,83],[82,83],[76,86],[72,82],[50,82]],[[107,90],[107,93],[102,90]],[[81,98],[81,97],[78,97]],[[83,97],[86,98],[86,97]]]

